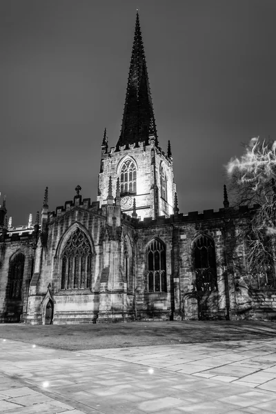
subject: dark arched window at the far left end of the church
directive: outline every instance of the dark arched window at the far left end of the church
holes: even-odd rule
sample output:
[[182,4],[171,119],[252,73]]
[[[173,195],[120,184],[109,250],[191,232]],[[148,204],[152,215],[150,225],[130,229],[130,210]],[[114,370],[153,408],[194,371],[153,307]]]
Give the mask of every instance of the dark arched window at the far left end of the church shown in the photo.
[[17,253],[10,261],[8,297],[10,299],[21,299],[21,288],[23,282],[25,256]]

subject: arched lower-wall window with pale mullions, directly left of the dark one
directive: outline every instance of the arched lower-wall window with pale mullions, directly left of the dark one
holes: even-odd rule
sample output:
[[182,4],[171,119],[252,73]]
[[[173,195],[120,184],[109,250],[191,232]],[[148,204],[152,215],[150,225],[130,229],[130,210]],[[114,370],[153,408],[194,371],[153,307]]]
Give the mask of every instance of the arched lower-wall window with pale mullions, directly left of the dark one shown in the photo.
[[160,240],[152,240],[147,249],[148,291],[166,292],[166,247]]

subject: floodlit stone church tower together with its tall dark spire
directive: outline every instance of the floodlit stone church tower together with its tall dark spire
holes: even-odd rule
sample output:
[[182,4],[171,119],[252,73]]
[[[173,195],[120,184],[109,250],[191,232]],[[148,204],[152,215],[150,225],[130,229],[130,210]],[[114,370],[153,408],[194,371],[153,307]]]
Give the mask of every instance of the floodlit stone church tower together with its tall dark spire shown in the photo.
[[101,144],[97,201],[106,204],[109,177],[115,194],[120,183],[121,210],[131,215],[134,199],[137,217],[156,218],[173,214],[175,183],[170,144],[161,150],[150,96],[148,70],[137,12],[126,102],[117,145],[108,150],[104,131]]

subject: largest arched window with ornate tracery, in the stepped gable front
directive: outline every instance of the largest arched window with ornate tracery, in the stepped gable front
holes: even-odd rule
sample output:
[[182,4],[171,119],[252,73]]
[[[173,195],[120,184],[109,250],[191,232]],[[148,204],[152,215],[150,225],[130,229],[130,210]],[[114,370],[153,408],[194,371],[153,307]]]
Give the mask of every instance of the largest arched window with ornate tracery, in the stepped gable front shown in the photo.
[[61,255],[61,289],[91,287],[92,250],[88,237],[77,228],[69,237]]

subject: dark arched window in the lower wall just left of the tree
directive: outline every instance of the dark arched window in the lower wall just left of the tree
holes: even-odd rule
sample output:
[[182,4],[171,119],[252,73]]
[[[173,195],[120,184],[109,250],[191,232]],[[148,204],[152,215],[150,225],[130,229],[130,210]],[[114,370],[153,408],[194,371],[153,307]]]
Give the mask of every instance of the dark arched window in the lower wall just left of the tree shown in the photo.
[[217,265],[213,239],[199,236],[193,246],[196,286],[199,291],[217,288]]

